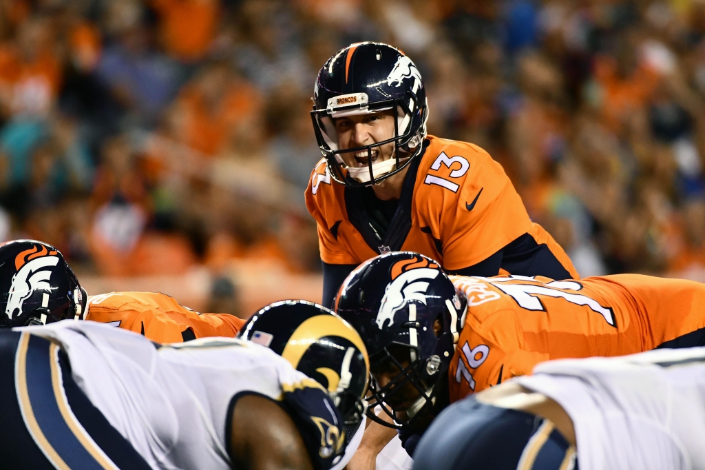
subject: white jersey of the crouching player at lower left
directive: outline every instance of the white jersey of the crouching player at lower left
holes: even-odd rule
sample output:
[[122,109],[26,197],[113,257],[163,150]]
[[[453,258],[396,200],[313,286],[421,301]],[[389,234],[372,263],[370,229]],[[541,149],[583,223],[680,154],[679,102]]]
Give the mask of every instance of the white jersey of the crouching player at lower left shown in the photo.
[[[259,344],[218,337],[160,347],[133,332],[90,321],[20,330],[66,351],[77,385],[154,469],[230,469],[228,406],[245,392],[285,399],[290,408],[302,407],[302,415],[314,413],[302,406],[300,392],[312,392],[314,406],[326,405],[324,414],[314,416],[331,425],[321,431],[335,428],[339,435],[338,417],[322,387]],[[314,433],[317,427],[312,425]],[[314,440],[326,439],[315,435]],[[321,447],[320,452],[336,450]]]

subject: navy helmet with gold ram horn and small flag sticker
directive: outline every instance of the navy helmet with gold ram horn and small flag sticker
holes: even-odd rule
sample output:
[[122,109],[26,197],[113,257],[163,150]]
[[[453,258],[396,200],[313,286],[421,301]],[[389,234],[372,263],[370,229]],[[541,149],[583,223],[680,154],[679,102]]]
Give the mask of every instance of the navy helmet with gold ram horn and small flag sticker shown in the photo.
[[269,347],[326,387],[345,421],[349,441],[367,409],[369,358],[345,320],[309,301],[271,303],[252,315],[238,337]]

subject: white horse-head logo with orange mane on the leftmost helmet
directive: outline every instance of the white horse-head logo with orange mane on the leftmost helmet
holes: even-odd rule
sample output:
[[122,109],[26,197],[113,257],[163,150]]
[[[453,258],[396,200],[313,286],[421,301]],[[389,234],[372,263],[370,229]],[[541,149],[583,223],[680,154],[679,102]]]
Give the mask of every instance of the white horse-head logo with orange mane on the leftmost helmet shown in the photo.
[[17,272],[12,277],[10,295],[8,297],[5,313],[12,319],[15,311],[18,315],[23,313],[22,304],[37,289],[49,291],[49,278],[51,268],[59,264],[59,257],[56,251],[47,250],[42,245],[41,251],[36,246],[25,250],[15,258],[15,268]]

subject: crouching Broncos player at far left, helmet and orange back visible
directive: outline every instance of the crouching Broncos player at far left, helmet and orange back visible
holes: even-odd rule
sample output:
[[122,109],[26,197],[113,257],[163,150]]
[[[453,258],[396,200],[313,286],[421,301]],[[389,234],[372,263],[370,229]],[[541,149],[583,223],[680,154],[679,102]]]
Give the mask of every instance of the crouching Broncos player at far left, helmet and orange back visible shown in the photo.
[[0,327],[85,318],[140,333],[156,342],[175,343],[234,337],[245,323],[233,315],[197,313],[157,292],[111,292],[89,297],[61,252],[37,240],[0,244],[0,292],[8,293]]

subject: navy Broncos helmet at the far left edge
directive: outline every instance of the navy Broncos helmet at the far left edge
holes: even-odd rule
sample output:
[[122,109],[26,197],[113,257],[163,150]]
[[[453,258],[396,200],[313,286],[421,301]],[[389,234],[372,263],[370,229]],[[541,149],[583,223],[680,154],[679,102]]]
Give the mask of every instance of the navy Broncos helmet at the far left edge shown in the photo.
[[87,294],[61,252],[37,240],[0,244],[0,327],[82,320]]

